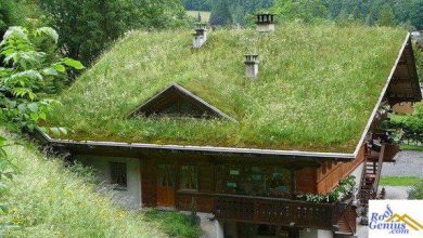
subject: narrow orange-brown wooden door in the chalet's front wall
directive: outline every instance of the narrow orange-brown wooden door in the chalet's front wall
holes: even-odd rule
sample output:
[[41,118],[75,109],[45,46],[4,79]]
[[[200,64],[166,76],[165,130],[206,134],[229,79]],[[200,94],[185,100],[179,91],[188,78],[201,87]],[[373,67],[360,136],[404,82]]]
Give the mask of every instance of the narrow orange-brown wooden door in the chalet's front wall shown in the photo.
[[169,163],[157,168],[157,207],[175,207],[175,167]]

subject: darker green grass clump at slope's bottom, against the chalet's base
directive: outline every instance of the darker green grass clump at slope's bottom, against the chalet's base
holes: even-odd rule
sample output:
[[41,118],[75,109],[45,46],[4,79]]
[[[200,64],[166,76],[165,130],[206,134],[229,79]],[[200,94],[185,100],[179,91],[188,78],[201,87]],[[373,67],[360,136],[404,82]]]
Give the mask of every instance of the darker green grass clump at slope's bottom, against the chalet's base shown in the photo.
[[177,212],[161,212],[157,210],[148,211],[144,214],[144,220],[159,221],[159,228],[170,237],[201,237],[202,230],[197,224],[193,225],[188,215]]

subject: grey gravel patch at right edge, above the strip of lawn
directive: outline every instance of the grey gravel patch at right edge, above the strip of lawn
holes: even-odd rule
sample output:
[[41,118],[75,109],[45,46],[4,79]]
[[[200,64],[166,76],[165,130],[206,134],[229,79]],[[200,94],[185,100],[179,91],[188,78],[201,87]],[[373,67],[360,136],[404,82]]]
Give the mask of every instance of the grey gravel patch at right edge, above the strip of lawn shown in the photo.
[[423,177],[423,151],[400,151],[395,163],[384,163],[382,176]]

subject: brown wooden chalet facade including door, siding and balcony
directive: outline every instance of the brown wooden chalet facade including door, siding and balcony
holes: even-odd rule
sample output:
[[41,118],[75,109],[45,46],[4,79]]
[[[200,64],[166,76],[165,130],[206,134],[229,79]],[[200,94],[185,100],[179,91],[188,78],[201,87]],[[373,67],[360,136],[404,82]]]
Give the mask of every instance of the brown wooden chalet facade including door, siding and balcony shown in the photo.
[[[350,174],[363,161],[359,156],[351,162],[324,161],[320,167],[298,167],[295,163],[274,160],[256,160],[210,156],[154,156],[141,158],[142,161],[142,203],[145,207],[168,207],[181,211],[190,211],[195,207],[196,211],[213,213],[216,219],[222,221],[235,221],[243,223],[286,225],[295,223],[295,227],[315,227],[333,229],[341,220],[344,210],[349,209],[346,203],[315,203],[296,199],[296,194],[303,193],[329,193],[339,180]],[[163,170],[158,168],[171,168],[175,176],[170,185],[164,187],[161,182]],[[181,187],[181,168],[195,166],[197,168],[197,189],[183,189]],[[271,172],[284,172],[280,174],[286,181],[284,193],[259,193],[240,189],[222,188],[226,183],[245,183],[252,185],[252,177],[258,177],[254,170]],[[274,169],[280,168],[280,169]],[[227,176],[225,174],[228,174]],[[238,177],[240,176],[240,177]],[[264,175],[266,176],[266,175]],[[268,180],[269,181],[269,180]],[[269,182],[270,183],[270,182]],[[241,185],[233,185],[241,186]],[[350,204],[349,204],[350,206]],[[348,207],[348,208],[347,208]],[[321,219],[325,217],[325,219]]]

